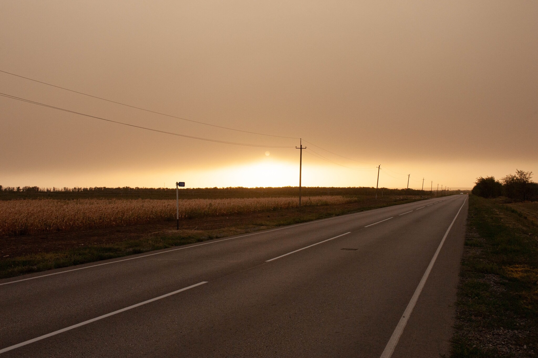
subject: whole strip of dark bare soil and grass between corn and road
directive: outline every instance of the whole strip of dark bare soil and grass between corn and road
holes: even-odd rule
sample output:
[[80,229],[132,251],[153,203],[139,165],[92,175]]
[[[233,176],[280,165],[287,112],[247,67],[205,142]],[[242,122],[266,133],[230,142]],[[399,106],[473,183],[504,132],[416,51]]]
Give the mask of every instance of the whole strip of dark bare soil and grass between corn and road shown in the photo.
[[[351,198],[352,199],[352,198]],[[421,200],[420,197],[357,197],[345,204],[232,213],[180,221],[54,231],[0,237],[0,278],[112,259],[126,255],[229,237],[284,225]],[[175,210],[175,206],[174,206]]]

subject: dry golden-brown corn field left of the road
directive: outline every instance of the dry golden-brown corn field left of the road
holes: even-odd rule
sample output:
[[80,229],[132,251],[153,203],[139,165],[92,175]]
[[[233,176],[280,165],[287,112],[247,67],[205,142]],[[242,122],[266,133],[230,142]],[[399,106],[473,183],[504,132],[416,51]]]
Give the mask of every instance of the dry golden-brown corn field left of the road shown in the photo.
[[[343,196],[303,197],[303,206],[344,204],[357,199]],[[183,199],[180,218],[222,216],[289,209],[297,198]],[[87,230],[175,219],[175,200],[75,199],[0,201],[0,236]]]

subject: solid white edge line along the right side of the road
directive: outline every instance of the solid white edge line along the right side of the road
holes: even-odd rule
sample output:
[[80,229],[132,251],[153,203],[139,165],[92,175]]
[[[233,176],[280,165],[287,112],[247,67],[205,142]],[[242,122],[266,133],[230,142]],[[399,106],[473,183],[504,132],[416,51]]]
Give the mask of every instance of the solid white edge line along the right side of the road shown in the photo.
[[422,276],[422,280],[420,280],[419,285],[417,286],[415,293],[413,294],[413,297],[411,297],[411,300],[409,301],[409,304],[407,305],[407,308],[405,309],[404,314],[402,315],[402,318],[400,318],[400,321],[398,322],[396,329],[392,333],[391,339],[388,340],[387,346],[383,350],[383,353],[381,353],[380,358],[391,358],[392,353],[394,353],[394,348],[396,348],[396,345],[398,344],[398,341],[400,340],[400,336],[404,332],[404,328],[407,324],[407,320],[409,319],[409,316],[411,316],[411,312],[413,312],[416,301],[419,299],[420,293],[422,292],[422,289],[424,288],[424,284],[426,284],[426,280],[428,280],[428,276],[430,275],[431,269],[434,267],[435,260],[437,260],[437,256],[439,255],[439,252],[441,251],[441,248],[443,247],[444,240],[447,238],[448,233],[450,232],[450,229],[452,228],[452,225],[454,225],[454,222],[456,221],[456,218],[458,217],[459,212],[462,211],[462,207],[463,205],[465,205],[466,200],[467,200],[467,197],[465,197],[465,200],[463,201],[462,206],[459,207],[459,210],[456,213],[456,216],[454,217],[454,219],[452,220],[452,223],[450,223],[450,226],[448,227],[447,232],[444,233],[443,239],[441,240],[441,244],[439,244],[439,246],[437,247],[434,257],[431,258],[430,264],[428,265],[426,272],[424,272],[424,275]]

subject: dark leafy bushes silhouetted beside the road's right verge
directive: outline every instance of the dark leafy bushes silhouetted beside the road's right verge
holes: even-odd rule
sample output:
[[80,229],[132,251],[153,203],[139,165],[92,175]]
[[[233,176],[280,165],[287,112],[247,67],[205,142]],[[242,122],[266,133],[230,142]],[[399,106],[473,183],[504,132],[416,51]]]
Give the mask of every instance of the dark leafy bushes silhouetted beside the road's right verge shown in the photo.
[[497,198],[505,196],[515,201],[537,201],[538,183],[532,181],[533,172],[516,170],[515,174],[508,174],[500,181],[493,176],[479,177],[472,189],[472,194],[484,198]]

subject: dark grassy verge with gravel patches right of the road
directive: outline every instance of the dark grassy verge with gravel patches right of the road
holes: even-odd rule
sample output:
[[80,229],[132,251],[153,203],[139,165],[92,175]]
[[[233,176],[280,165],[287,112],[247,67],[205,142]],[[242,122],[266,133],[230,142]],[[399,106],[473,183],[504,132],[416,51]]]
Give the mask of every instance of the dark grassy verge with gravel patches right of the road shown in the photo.
[[451,357],[538,356],[538,227],[473,195],[467,225]]

